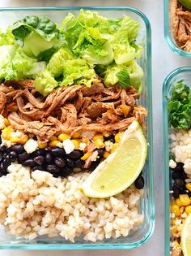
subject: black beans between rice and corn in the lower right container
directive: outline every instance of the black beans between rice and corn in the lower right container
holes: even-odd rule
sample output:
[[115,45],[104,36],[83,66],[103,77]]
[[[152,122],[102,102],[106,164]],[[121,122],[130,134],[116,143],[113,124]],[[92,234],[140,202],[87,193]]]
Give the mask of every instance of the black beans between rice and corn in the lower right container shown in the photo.
[[176,167],[174,169],[170,168],[172,175],[172,194],[173,197],[178,198],[180,194],[188,194],[191,196],[188,189],[185,187],[185,180],[188,179],[185,170],[183,168],[184,163],[176,163]]

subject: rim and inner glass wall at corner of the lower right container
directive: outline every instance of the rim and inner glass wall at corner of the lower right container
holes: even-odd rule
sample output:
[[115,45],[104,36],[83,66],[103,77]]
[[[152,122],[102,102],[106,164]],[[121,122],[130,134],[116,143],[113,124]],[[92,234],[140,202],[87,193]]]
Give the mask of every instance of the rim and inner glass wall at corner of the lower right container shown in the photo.
[[169,148],[168,148],[168,99],[171,98],[172,85],[178,80],[185,80],[191,87],[191,67],[180,67],[171,72],[163,82],[163,159],[165,179],[165,256],[170,256],[170,184],[172,177],[169,175]]

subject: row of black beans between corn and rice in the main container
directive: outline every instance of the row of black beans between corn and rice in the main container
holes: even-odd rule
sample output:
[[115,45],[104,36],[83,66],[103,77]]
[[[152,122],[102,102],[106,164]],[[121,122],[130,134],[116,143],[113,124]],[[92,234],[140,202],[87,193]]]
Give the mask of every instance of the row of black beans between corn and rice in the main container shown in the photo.
[[[100,157],[104,154],[104,150],[99,150]],[[10,148],[2,146],[0,148],[0,176],[7,174],[7,167],[17,161],[24,167],[31,167],[32,171],[48,171],[53,176],[69,176],[74,168],[80,168],[85,171],[84,161],[81,160],[83,151],[74,150],[70,154],[61,148],[52,148],[48,150],[36,150],[32,154],[28,154],[21,144],[12,145]],[[93,171],[100,163],[100,158],[91,163],[91,171]]]

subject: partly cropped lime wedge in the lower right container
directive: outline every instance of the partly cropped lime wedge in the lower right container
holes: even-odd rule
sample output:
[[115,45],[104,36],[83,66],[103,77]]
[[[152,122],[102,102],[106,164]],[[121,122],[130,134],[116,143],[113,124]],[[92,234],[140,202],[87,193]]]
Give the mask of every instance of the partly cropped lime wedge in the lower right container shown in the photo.
[[191,214],[185,219],[182,227],[181,247],[184,256],[191,256]]

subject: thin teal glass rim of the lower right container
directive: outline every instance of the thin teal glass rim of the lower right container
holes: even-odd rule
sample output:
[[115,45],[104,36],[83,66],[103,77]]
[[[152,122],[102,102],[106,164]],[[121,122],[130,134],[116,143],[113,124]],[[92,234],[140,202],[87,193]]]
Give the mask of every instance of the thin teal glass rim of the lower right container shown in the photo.
[[170,255],[170,186],[169,186],[169,148],[168,148],[168,85],[179,73],[191,72],[191,67],[179,67],[172,71],[163,81],[163,166],[164,166],[164,245],[165,256]]

